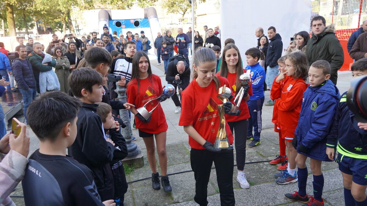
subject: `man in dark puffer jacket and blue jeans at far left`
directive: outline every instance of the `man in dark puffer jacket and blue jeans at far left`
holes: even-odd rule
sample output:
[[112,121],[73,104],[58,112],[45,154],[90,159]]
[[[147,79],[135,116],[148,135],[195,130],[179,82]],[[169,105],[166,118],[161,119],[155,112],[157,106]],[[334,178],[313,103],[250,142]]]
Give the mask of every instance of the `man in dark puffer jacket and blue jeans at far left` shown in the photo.
[[14,80],[18,84],[19,91],[22,94],[24,102],[24,117],[27,120],[27,108],[29,103],[36,98],[36,79],[34,79],[32,64],[26,59],[27,49],[25,46],[20,46],[18,51],[19,58],[16,58],[11,65]]

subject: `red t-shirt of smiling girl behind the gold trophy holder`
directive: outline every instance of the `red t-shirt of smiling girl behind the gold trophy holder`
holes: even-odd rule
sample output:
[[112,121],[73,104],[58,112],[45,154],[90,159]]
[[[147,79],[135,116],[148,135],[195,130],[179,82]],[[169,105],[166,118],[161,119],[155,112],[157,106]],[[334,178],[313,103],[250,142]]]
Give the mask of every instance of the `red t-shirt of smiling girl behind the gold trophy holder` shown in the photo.
[[[243,72],[246,73],[246,69],[243,69]],[[221,72],[217,72],[215,76],[219,76]],[[233,94],[236,94],[236,81],[237,81],[237,73],[229,73],[227,74],[227,80],[229,82],[228,87],[232,90]],[[248,94],[252,95],[252,84],[250,85],[250,88],[248,89]],[[233,97],[233,101],[235,101],[235,97]],[[225,115],[227,122],[237,122],[240,120],[248,119],[250,118],[250,112],[248,112],[248,106],[246,101],[242,100],[240,104],[240,110],[241,113],[239,116],[234,115]]]

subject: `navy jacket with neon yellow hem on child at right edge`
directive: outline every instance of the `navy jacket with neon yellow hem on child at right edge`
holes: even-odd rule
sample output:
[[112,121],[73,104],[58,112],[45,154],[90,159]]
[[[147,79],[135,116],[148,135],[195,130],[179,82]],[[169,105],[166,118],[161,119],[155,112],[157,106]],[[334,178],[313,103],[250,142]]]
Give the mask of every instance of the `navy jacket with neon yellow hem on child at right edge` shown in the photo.
[[358,121],[346,103],[347,92],[343,93],[337,107],[333,127],[327,137],[326,147],[335,148],[342,155],[367,159],[367,131],[358,127]]

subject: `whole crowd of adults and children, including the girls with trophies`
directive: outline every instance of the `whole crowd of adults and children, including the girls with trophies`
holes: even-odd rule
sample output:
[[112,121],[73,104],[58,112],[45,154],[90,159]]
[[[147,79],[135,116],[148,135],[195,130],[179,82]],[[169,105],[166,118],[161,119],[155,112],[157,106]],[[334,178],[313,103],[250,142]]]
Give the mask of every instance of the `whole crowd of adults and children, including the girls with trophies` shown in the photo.
[[[226,39],[221,49],[219,26],[214,30],[204,26],[204,38],[191,28],[186,34],[179,28],[176,38],[170,30],[157,34],[153,45],[158,64],[162,58],[166,81],[177,88],[180,96],[175,93],[172,100],[175,113],[181,113],[178,125],[189,136],[190,163],[196,182],[194,200],[199,205],[208,205],[207,185],[213,162],[221,205],[235,205],[234,149],[236,179],[241,188],[250,188],[244,173],[246,147],[261,144],[262,106],[268,88],[270,100],[265,105],[274,106],[272,122],[279,135],[279,155],[269,162],[281,164],[280,172],[274,175],[275,182],[298,182],[298,191],[285,194],[285,198],[323,206],[321,164],[336,161],[342,172],[345,205],[367,205],[367,144],[363,140],[367,137],[367,123],[357,122],[346,105],[347,92],[340,95],[336,87],[344,55],[334,26],[326,26],[321,16],[314,17],[311,23],[311,37],[306,31],[296,33],[283,56],[283,43],[276,28],[270,26],[268,36],[264,29],[257,28],[256,47],[248,48],[243,55],[247,66],[235,40]],[[367,30],[364,23],[363,31]],[[28,40],[29,45],[25,46],[19,40],[19,58],[11,66],[0,43],[0,95],[11,84],[12,75],[23,97],[26,120],[20,123],[14,119],[21,130],[18,136],[6,133],[5,125],[1,125],[3,205],[12,204],[8,195],[21,180],[26,205],[124,205],[128,184],[121,160],[128,151],[121,135],[126,125],[119,118],[120,109],[135,116],[134,128],[144,141],[152,171],[152,188],[172,191],[167,176],[168,125],[158,103],[167,96],[161,95],[161,79],[152,72],[147,54],[151,42],[144,31],[140,37],[131,32],[118,37],[117,32],[109,34],[106,25],[103,30],[100,39],[96,32],[81,40],[73,34],[63,39],[52,35],[46,51],[38,42]],[[354,35],[357,37],[350,50],[351,56],[356,55],[351,68],[353,77],[367,75],[364,34]],[[177,55],[174,46],[178,48]],[[189,54],[193,52],[190,82]],[[239,77],[243,73],[250,73],[251,84],[241,84]],[[231,91],[225,102],[217,97],[219,87],[224,85]],[[126,88],[127,102],[116,99],[117,87]],[[235,102],[239,91],[243,98]],[[214,147],[221,124],[218,105],[223,105],[225,112],[228,149]],[[156,107],[148,119],[137,110],[143,106],[148,111]],[[27,124],[40,141],[40,148],[29,159]],[[247,140],[251,140],[248,145]],[[161,174],[157,170],[156,151]],[[313,175],[313,196],[306,193],[307,158]]]

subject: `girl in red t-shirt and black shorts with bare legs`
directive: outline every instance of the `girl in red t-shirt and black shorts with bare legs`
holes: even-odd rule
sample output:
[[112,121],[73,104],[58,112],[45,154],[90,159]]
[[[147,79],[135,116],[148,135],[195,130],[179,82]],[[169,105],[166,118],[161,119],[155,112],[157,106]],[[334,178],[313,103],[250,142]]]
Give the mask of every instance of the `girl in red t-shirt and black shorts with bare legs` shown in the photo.
[[[127,84],[127,102],[135,105],[130,111],[135,115],[135,126],[139,130],[139,136],[143,138],[150,169],[152,169],[152,187],[160,189],[159,173],[157,172],[154,138],[156,139],[159,165],[162,172],[162,187],[165,192],[171,192],[172,188],[167,176],[166,131],[168,129],[166,117],[161,105],[152,112],[148,120],[145,120],[136,108],[142,107],[146,102],[159,97],[162,94],[161,79],[152,74],[148,55],[138,51],[132,60],[131,81]],[[159,102],[166,100],[162,95],[160,99],[151,101],[146,109],[151,111]]]

